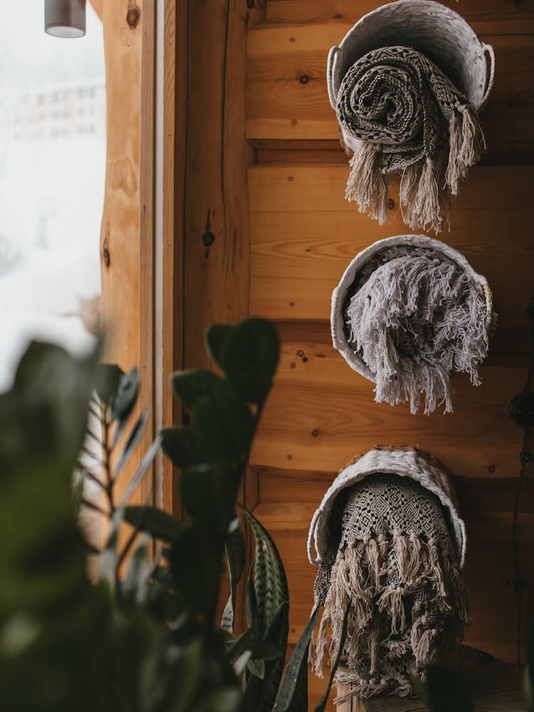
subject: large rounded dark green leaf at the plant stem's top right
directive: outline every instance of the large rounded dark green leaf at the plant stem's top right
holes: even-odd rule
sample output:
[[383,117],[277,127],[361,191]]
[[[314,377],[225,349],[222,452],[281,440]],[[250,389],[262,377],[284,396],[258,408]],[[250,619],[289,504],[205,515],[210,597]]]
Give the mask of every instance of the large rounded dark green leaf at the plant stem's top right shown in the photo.
[[226,335],[221,364],[246,402],[262,404],[278,365],[278,332],[266,319],[246,319]]

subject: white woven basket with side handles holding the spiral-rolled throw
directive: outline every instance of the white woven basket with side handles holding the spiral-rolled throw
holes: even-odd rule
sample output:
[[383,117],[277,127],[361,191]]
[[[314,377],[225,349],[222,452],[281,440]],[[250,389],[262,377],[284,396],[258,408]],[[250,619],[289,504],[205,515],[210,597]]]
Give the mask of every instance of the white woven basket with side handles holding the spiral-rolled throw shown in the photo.
[[[488,101],[495,75],[491,45],[481,43],[454,10],[433,0],[398,0],[357,21],[340,45],[330,49],[326,78],[332,108],[353,63],[372,49],[403,45],[424,54],[456,85],[477,110]],[[489,57],[489,75],[488,62]],[[342,143],[354,151],[360,141],[340,127]]]

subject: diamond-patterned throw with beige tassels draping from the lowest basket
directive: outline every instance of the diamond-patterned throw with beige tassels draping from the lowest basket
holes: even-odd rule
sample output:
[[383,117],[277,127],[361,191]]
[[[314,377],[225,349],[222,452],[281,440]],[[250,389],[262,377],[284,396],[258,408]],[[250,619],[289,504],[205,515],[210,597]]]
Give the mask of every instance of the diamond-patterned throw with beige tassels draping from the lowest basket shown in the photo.
[[464,585],[444,508],[418,482],[368,476],[337,496],[330,540],[315,580],[324,606],[310,648],[315,674],[333,663],[350,604],[336,683],[351,696],[412,694],[409,673],[454,658],[468,623]]

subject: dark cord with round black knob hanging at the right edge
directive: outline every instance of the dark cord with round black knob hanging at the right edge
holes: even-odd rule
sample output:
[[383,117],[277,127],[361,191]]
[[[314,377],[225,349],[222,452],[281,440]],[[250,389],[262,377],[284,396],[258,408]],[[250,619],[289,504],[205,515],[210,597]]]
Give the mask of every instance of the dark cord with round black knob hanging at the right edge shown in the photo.
[[514,567],[513,590],[515,594],[515,605],[517,607],[515,640],[517,646],[516,664],[518,668],[521,664],[521,627],[523,619],[523,596],[525,593],[525,582],[523,580],[523,576],[521,575],[519,563],[518,515],[521,491],[523,489],[528,464],[533,459],[533,453],[530,451],[530,434],[534,425],[534,296],[528,303],[527,315],[530,322],[530,364],[523,392],[515,396],[510,404],[511,417],[518,425],[523,427],[523,448],[520,452],[521,468],[519,472],[518,486],[515,489],[512,524]]

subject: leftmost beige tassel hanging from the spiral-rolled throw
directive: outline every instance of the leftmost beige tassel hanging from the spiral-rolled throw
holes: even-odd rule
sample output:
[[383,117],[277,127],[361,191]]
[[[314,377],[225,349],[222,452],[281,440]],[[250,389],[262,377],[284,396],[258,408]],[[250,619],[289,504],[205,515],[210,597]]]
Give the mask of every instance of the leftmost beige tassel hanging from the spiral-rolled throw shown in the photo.
[[370,216],[383,225],[387,214],[387,178],[382,173],[382,150],[379,145],[365,142],[350,159],[351,172],[347,181],[345,198],[356,201],[360,213]]

